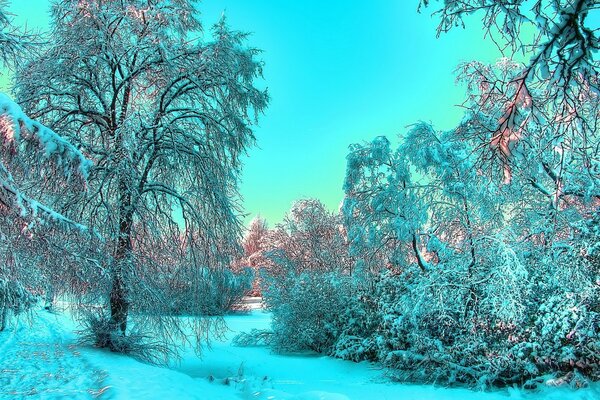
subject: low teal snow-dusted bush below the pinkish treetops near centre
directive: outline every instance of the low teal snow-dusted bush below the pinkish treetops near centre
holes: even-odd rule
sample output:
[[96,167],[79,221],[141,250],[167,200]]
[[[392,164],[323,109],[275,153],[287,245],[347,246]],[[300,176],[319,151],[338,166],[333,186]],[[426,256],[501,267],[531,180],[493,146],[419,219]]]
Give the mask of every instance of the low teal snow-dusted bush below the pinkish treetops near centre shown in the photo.
[[265,304],[273,313],[269,344],[277,351],[312,350],[352,361],[377,358],[380,316],[372,293],[354,277],[303,271],[265,275],[263,282]]

